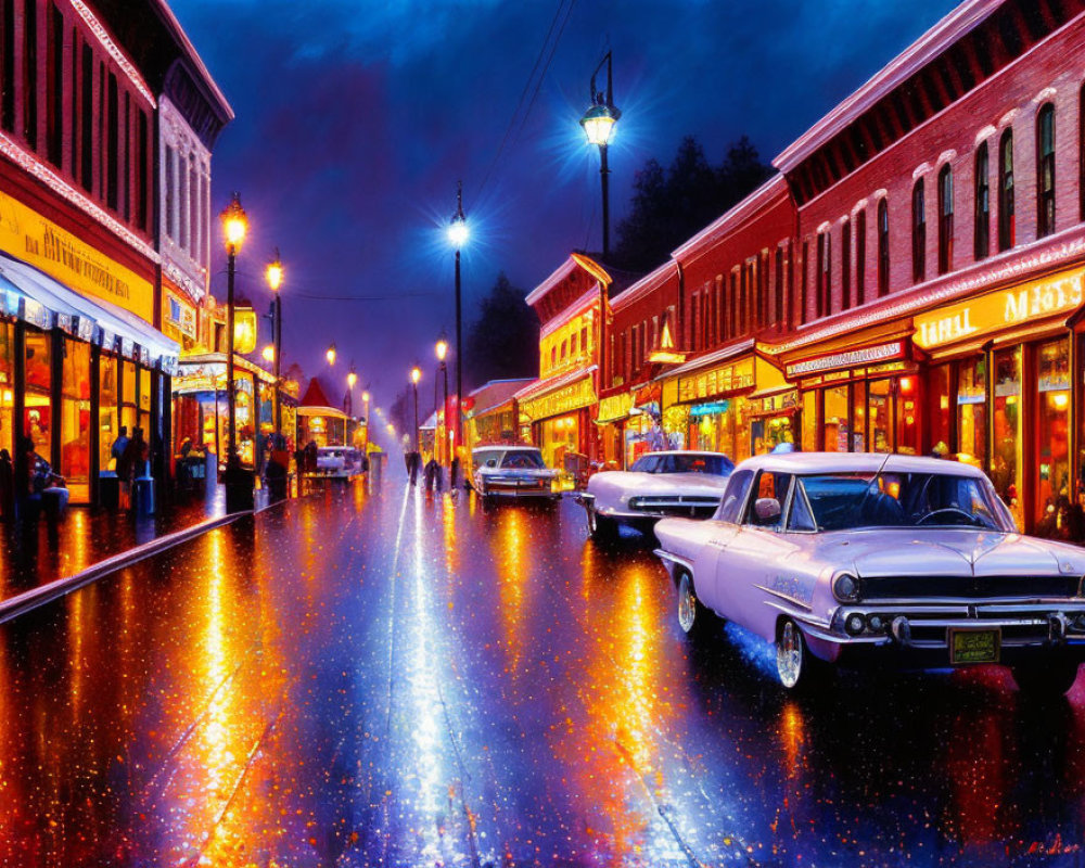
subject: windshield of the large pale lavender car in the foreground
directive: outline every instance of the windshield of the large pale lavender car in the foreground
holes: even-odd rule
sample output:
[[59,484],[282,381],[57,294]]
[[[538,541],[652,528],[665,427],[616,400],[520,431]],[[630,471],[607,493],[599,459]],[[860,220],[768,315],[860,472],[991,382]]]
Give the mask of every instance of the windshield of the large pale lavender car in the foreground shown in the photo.
[[819,531],[983,527],[1013,531],[986,478],[953,473],[824,473],[800,477]]

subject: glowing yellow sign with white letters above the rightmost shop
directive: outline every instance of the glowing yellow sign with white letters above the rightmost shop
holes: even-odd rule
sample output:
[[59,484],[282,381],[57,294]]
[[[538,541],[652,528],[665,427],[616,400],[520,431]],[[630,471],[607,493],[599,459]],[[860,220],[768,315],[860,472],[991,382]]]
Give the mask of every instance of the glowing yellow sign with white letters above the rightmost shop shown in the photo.
[[1085,269],[980,295],[968,302],[916,317],[917,346],[952,344],[1057,314],[1069,314],[1085,301]]

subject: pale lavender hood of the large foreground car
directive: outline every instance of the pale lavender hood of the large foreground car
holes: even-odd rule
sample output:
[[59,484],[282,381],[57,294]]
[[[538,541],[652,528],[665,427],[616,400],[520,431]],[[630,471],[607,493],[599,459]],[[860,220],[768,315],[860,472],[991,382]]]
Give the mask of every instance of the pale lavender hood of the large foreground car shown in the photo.
[[819,554],[859,577],[1085,574],[1085,552],[1021,534],[878,528],[827,535]]

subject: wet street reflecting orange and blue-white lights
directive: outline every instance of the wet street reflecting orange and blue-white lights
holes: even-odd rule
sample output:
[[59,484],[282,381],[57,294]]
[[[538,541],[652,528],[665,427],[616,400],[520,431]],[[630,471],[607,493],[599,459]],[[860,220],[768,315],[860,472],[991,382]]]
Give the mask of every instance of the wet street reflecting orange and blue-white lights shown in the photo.
[[634,537],[387,480],[0,627],[10,866],[1081,865],[1085,677],[844,677],[681,635]]

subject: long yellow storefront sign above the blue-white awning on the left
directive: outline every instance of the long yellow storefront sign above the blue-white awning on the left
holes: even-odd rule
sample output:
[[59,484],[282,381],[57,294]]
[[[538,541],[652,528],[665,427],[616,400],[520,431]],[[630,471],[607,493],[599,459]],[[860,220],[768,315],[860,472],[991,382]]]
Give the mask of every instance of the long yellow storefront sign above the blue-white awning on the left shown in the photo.
[[22,202],[0,192],[0,250],[37,266],[71,289],[104,298],[146,322],[154,286]]

